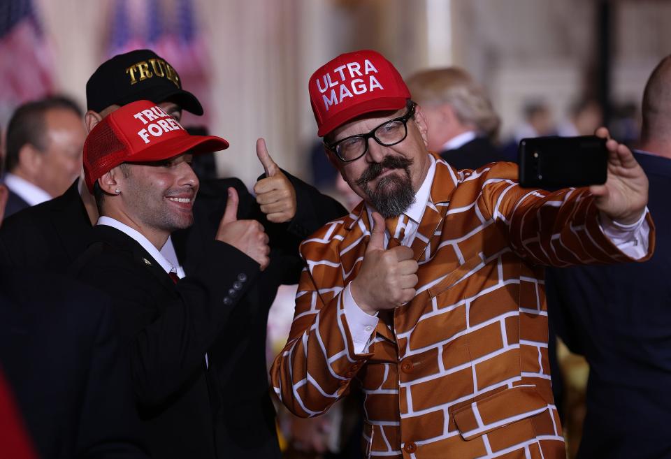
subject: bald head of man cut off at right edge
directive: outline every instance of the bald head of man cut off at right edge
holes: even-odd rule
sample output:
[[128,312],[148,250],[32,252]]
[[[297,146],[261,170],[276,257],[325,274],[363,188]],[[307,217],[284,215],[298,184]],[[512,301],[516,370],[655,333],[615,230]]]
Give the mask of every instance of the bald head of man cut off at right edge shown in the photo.
[[671,157],[671,56],[662,59],[645,85],[641,148]]

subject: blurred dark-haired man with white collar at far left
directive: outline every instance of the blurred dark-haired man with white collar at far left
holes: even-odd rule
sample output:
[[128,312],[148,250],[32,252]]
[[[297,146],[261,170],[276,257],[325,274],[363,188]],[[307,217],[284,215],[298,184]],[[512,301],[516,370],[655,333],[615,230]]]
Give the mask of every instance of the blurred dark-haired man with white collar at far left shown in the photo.
[[5,217],[63,194],[80,174],[85,138],[82,112],[70,99],[20,105],[6,133]]

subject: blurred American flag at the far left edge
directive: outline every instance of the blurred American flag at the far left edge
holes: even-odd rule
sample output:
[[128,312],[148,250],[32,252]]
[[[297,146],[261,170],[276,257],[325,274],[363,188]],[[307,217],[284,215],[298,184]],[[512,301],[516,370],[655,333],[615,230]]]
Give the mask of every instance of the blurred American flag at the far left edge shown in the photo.
[[32,0],[0,1],[0,125],[20,103],[52,93],[52,59]]

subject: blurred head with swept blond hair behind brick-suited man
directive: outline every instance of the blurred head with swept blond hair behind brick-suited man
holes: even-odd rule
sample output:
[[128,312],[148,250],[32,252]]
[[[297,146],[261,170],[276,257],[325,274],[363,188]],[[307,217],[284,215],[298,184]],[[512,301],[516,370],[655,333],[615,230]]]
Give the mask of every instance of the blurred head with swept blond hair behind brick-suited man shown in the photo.
[[[445,142],[449,136],[454,137],[463,131],[477,131],[490,138],[496,137],[500,124],[498,115],[484,88],[467,71],[459,67],[436,68],[415,73],[406,82],[412,100],[422,108],[449,108],[449,112],[441,112],[445,122],[430,126],[430,143],[432,137],[440,136],[439,140]],[[454,115],[455,126],[449,126],[451,115]],[[437,129],[442,133],[438,133]]]

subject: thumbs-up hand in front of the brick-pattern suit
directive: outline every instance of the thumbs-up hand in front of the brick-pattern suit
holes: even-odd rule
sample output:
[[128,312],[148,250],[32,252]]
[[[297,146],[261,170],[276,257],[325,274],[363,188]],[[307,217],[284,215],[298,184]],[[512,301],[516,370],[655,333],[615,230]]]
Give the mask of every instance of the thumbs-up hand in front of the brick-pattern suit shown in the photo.
[[373,212],[373,226],[361,270],[349,289],[363,312],[375,315],[412,300],[417,293],[417,269],[412,249],[400,245],[384,249],[384,218]]

